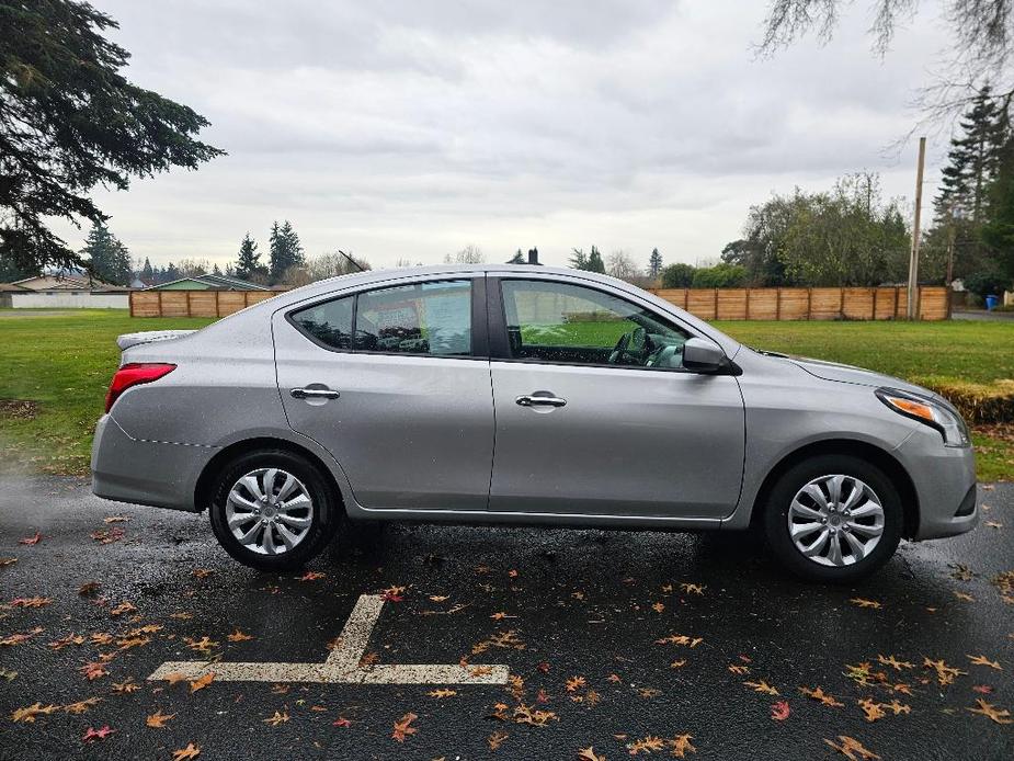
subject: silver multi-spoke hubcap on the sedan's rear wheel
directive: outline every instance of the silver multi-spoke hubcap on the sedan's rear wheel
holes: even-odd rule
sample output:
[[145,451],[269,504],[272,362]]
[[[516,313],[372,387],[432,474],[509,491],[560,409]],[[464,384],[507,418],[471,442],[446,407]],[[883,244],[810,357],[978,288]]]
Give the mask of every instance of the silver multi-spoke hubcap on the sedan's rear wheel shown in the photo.
[[226,521],[247,549],[282,555],[306,538],[314,522],[314,500],[290,473],[258,468],[232,485]]

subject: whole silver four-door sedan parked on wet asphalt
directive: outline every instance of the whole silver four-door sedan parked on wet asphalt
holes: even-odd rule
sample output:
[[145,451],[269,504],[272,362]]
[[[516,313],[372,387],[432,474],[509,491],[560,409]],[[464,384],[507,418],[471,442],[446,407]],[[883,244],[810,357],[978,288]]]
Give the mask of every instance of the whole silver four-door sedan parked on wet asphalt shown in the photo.
[[206,509],[254,568],[414,520],[753,529],[795,573],[848,581],[978,521],[945,399],[586,272],[366,272],[118,343],[94,492]]

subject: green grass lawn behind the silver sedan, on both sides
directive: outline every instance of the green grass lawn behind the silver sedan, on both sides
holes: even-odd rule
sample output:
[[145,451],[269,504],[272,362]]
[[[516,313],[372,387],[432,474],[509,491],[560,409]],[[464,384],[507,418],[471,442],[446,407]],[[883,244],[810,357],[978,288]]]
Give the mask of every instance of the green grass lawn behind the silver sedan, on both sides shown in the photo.
[[[0,310],[0,458],[87,474],[121,333],[200,328],[206,319],[119,311]],[[748,345],[855,364],[915,382],[1014,378],[1014,326],[1001,322],[719,322]],[[34,406],[4,405],[26,400]],[[1014,441],[977,433],[983,480],[1014,478]]]

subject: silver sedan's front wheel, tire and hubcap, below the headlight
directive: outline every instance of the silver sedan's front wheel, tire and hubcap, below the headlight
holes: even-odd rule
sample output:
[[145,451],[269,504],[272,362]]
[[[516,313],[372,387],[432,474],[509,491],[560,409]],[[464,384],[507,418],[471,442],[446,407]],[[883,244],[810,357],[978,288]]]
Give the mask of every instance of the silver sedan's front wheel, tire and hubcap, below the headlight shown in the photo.
[[764,513],[768,545],[804,579],[847,582],[895,554],[903,512],[898,490],[877,466],[851,455],[821,455],[778,478]]

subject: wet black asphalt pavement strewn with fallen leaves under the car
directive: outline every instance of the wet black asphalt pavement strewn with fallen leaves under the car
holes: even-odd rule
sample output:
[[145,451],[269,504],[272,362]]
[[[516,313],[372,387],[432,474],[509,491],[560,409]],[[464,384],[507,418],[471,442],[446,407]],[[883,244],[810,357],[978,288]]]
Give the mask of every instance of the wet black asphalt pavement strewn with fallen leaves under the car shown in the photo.
[[[612,760],[844,759],[825,739],[847,750],[845,736],[869,759],[1011,759],[1014,724],[969,708],[1014,714],[1014,590],[995,583],[1014,570],[1014,485],[980,501],[1001,527],[904,544],[854,588],[797,582],[750,542],[714,535],[405,524],[338,545],[299,580],[233,563],[206,515],[7,478],[0,558],[16,563],[0,567],[0,758],[170,759],[192,743],[202,760],[577,759],[589,747]],[[98,589],[79,594],[88,582]],[[146,681],[163,661],[322,662],[360,595],[385,590],[364,670],[464,658],[477,673],[506,665],[512,681],[444,696]],[[867,720],[862,700],[884,715]],[[36,702],[57,707],[13,720]],[[146,726],[157,712],[172,718]]]

